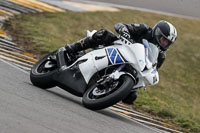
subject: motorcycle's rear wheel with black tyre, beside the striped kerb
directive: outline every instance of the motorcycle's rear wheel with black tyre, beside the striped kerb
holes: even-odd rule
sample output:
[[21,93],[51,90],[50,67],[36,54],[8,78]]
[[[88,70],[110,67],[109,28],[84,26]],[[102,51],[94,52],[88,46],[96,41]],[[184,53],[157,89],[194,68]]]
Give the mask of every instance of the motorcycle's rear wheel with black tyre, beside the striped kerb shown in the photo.
[[[42,89],[48,89],[56,86],[56,83],[52,80],[52,76],[55,72],[57,72],[57,66],[56,63],[53,64],[48,60],[50,56],[55,56],[55,54],[56,51],[48,54],[34,64],[30,72],[30,80],[33,85]],[[48,65],[49,68],[45,67],[45,65]]]

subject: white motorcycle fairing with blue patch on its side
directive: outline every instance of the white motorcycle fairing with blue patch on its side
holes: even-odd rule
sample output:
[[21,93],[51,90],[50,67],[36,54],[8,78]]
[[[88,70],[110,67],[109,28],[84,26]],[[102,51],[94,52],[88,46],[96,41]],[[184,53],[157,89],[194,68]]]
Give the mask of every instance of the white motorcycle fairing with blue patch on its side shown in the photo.
[[[138,72],[138,83],[134,88],[155,85],[159,82],[159,75],[153,64],[158,57],[158,48],[154,44],[132,44],[125,38],[114,42],[115,45],[91,51],[77,60],[85,60],[79,64],[79,69],[88,83],[98,71],[116,64],[129,63]],[[150,54],[154,54],[151,61]],[[149,52],[149,53],[148,53]],[[153,62],[152,62],[153,61]]]

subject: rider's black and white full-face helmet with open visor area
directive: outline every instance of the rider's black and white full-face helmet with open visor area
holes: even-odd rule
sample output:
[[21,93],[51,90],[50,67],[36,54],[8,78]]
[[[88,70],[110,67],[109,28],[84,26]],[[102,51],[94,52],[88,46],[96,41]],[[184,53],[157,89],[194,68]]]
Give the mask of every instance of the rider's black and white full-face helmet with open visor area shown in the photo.
[[162,51],[166,51],[169,46],[176,41],[176,28],[169,22],[161,20],[154,27],[152,36]]

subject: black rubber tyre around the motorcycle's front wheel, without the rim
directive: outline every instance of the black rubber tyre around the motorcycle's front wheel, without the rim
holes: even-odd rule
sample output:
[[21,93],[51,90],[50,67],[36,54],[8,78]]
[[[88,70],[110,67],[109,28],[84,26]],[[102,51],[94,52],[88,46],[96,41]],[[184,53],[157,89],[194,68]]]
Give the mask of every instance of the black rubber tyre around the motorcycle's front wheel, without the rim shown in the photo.
[[130,93],[134,85],[132,78],[128,75],[122,75],[119,81],[121,82],[120,86],[117,86],[115,91],[100,98],[93,97],[94,90],[97,87],[96,84],[92,85],[83,95],[83,105],[92,110],[99,110],[118,103]]

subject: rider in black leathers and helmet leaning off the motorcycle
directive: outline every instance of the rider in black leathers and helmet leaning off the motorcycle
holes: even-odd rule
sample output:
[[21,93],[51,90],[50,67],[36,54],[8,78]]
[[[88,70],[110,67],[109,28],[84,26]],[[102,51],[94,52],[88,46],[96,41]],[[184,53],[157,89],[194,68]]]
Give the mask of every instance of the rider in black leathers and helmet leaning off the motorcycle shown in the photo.
[[[142,39],[146,39],[158,46],[160,52],[157,59],[157,69],[161,67],[166,58],[165,51],[177,38],[176,28],[171,23],[164,20],[159,21],[153,28],[146,24],[117,23],[115,24],[115,30],[120,35],[133,39],[135,42],[142,43]],[[99,30],[95,32],[92,37],[86,37],[76,43],[66,45],[65,49],[68,53],[75,53],[87,48],[97,47],[100,44],[108,46],[115,40],[117,40],[117,37],[113,33],[107,30]],[[137,89],[133,89],[122,102],[132,104],[136,98]]]

